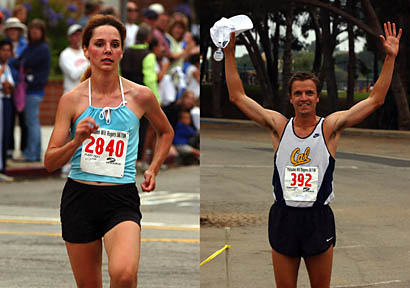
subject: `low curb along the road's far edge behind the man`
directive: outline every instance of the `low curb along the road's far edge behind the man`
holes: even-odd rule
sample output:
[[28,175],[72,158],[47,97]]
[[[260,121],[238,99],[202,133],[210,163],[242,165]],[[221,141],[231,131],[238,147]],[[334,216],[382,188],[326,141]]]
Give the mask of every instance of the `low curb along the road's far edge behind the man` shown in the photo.
[[[217,127],[223,125],[230,125],[231,127],[239,128],[263,128],[252,120],[237,120],[237,119],[221,119],[221,118],[201,118],[201,126],[203,127]],[[369,136],[369,137],[388,137],[410,139],[410,131],[398,130],[377,130],[377,129],[363,129],[363,128],[347,128],[343,131],[343,135],[349,136]]]

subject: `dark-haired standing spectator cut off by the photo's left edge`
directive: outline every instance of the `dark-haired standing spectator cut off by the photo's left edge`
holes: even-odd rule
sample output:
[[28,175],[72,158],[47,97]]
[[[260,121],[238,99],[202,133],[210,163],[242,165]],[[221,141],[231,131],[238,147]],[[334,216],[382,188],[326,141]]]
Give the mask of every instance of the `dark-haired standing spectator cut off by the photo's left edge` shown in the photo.
[[12,44],[8,40],[0,41],[0,182],[13,181],[6,173],[7,149],[10,146],[12,124],[14,81],[7,64],[11,57]]

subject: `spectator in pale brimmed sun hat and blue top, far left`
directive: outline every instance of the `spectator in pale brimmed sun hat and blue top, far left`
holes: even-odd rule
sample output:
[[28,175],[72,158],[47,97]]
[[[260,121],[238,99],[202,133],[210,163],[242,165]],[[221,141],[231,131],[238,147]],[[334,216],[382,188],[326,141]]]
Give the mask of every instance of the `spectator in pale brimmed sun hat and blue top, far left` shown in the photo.
[[[27,27],[17,17],[10,17],[4,23],[4,33],[6,34],[5,39],[9,40],[12,44],[12,53],[9,59],[9,66],[11,69],[11,74],[13,76],[13,81],[15,85],[18,83],[19,67],[15,67],[14,63],[21,53],[27,48],[27,40],[24,35],[27,33]],[[15,115],[18,116],[18,123],[20,126],[20,151],[24,151],[27,143],[27,126],[24,120],[24,113],[18,112],[13,106],[13,110],[10,111],[12,114],[11,119],[11,131],[9,137],[11,139],[10,146],[7,147],[7,155],[9,158],[12,157],[13,150],[15,149],[15,139],[14,139],[14,127],[15,127]]]

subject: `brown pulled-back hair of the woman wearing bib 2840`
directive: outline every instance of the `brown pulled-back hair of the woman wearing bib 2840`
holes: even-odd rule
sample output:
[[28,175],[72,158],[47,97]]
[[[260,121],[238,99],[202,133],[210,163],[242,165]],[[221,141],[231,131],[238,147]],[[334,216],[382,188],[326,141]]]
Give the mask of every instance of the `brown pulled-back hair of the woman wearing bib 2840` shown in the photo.
[[[118,30],[121,37],[121,48],[124,49],[124,40],[126,37],[125,26],[121,23],[120,20],[112,15],[95,15],[91,17],[91,19],[88,21],[87,26],[85,26],[85,28],[83,29],[83,48],[88,48],[88,46],[90,45],[90,40],[93,36],[94,29],[104,25],[113,26]],[[81,81],[88,79],[90,76],[91,66],[88,66],[87,70],[81,76]]]

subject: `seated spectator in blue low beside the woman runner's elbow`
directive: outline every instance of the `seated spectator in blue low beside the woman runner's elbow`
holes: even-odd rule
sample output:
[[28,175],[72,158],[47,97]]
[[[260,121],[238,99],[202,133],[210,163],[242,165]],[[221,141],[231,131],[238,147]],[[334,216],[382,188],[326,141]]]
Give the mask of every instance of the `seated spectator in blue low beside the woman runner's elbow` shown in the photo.
[[182,158],[194,156],[199,160],[199,147],[193,147],[190,145],[190,142],[196,142],[196,140],[193,139],[198,139],[198,137],[199,135],[191,126],[191,114],[188,111],[181,111],[179,114],[179,121],[175,127],[173,144]]

